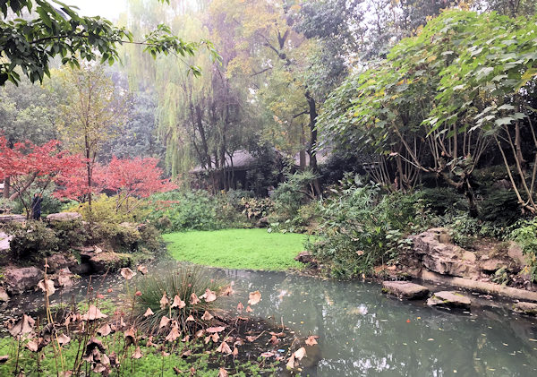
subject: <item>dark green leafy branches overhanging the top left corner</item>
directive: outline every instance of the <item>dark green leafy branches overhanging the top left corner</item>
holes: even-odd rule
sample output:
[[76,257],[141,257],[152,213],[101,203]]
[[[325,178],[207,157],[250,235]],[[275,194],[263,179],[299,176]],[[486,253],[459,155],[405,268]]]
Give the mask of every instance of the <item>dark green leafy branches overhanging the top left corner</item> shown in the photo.
[[[25,11],[30,16],[21,18]],[[50,76],[49,62],[55,56],[71,67],[80,67],[83,60],[113,64],[119,58],[117,47],[124,43],[140,44],[154,57],[159,53],[192,56],[200,43],[211,48],[206,41],[185,42],[175,37],[164,24],[134,41],[130,30],[100,17],[82,17],[57,0],[7,0],[0,3],[0,12],[0,85],[21,81],[17,68],[30,81],[42,82],[45,75]],[[18,18],[11,17],[13,13]],[[200,74],[198,67],[192,66],[191,71]]]

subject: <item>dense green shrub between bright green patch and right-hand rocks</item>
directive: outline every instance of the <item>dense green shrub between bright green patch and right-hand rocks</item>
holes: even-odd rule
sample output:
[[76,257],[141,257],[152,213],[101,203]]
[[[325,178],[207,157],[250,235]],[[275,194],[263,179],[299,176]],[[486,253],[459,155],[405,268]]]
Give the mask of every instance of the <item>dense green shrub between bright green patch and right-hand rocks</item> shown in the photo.
[[319,238],[311,252],[337,278],[371,273],[397,255],[405,232],[425,225],[419,194],[381,195],[378,185],[350,187],[321,202]]

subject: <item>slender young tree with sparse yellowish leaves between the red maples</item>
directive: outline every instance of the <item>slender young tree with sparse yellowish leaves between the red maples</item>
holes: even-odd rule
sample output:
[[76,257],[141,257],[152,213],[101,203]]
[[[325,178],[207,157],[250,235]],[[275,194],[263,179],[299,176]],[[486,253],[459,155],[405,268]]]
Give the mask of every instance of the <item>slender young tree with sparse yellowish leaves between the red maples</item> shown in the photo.
[[58,130],[64,146],[85,159],[86,197],[91,206],[93,171],[103,144],[124,123],[124,100],[102,65],[65,68],[58,73],[64,103],[60,106]]

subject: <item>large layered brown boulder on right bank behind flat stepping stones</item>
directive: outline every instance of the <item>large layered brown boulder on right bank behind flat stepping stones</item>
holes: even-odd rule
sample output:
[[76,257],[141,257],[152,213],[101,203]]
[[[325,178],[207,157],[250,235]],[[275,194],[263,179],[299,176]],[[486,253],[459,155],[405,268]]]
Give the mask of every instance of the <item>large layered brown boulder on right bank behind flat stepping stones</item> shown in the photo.
[[433,228],[410,237],[413,240],[413,252],[422,261],[423,267],[441,275],[479,278],[480,271],[475,265],[474,253],[455,244],[439,241],[446,240],[446,232],[445,228]]

